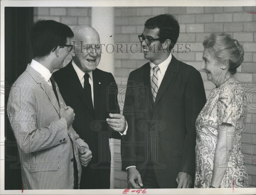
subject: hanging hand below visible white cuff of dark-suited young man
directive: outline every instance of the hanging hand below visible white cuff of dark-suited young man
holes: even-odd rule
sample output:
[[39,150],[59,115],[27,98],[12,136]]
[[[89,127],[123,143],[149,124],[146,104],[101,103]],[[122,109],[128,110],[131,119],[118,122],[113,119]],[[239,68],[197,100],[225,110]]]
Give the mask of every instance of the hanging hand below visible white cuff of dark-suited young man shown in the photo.
[[141,175],[136,167],[127,169],[127,183],[132,186],[132,188],[141,188],[143,186]]

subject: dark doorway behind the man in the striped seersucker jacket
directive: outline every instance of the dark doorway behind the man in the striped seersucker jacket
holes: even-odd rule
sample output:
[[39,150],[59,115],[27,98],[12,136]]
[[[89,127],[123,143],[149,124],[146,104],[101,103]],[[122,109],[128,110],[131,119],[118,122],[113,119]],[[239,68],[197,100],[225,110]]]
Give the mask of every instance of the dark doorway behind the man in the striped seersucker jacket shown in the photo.
[[[22,189],[17,143],[7,115],[7,101],[12,83],[32,60],[29,32],[33,26],[33,7],[5,7],[5,190]],[[3,86],[2,86],[3,87]]]

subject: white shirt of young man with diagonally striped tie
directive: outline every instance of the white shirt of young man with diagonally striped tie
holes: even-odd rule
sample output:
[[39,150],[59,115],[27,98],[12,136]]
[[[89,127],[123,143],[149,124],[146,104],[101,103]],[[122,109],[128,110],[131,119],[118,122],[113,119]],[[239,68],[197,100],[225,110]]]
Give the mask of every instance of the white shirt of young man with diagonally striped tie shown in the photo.
[[[167,67],[170,64],[171,60],[172,60],[172,54],[170,54],[169,57],[166,60],[164,60],[164,62],[158,64],[158,67],[159,67],[159,70],[157,71],[157,76],[158,76],[157,87],[158,87],[158,89],[159,89],[159,87],[160,87],[160,85],[162,83],[162,80],[164,78],[165,72],[166,72]],[[152,76],[154,74],[153,68],[154,68],[155,64],[153,64],[151,61],[149,62],[149,64],[150,64],[150,80],[152,82]],[[136,166],[126,167],[125,170],[127,170],[130,167],[136,167]]]

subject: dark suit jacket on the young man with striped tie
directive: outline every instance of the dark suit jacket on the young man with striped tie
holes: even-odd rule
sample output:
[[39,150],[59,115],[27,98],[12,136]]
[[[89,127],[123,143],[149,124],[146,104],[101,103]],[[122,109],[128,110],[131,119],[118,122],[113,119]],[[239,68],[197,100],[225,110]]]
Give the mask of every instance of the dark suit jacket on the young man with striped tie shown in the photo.
[[195,174],[195,122],[205,103],[199,71],[174,56],[155,103],[150,64],[132,71],[123,113],[128,130],[121,148],[122,169],[135,165],[143,182],[147,162],[151,161],[161,188],[177,188],[179,172]]

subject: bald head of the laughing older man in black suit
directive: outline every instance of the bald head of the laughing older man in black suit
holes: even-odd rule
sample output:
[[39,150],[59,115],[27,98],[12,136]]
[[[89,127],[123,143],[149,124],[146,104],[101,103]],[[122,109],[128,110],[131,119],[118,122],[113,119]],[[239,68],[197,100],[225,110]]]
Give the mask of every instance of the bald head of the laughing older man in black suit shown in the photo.
[[74,63],[83,72],[88,73],[95,70],[100,62],[101,47],[98,32],[88,25],[80,25],[73,29],[74,44],[71,52]]

